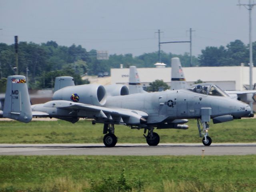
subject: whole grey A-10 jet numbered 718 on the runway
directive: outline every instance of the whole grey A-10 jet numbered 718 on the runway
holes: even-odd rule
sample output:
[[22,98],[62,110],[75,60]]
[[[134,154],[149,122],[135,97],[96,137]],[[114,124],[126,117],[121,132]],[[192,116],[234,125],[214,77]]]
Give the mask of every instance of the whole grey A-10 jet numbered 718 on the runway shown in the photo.
[[154,132],[155,128],[187,129],[186,119],[196,118],[202,125],[198,127],[200,134],[204,133],[202,142],[209,146],[211,118],[214,123],[226,122],[249,116],[251,109],[248,104],[231,99],[214,84],[202,86],[208,87],[207,92],[197,93],[194,88],[188,88],[110,97],[100,85],[68,86],[56,90],[52,101],[30,106],[25,77],[8,76],[3,116],[21,122],[30,122],[32,116],[73,123],[79,118],[92,118],[93,124],[104,124],[103,142],[107,147],[117,142],[114,124],[144,129],[146,142],[156,146],[160,137]]

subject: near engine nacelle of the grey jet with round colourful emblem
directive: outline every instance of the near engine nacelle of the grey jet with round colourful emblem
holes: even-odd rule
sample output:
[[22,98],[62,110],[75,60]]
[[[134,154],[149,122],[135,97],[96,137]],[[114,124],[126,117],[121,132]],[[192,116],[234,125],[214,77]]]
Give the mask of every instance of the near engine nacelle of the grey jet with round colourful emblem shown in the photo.
[[103,106],[106,103],[107,94],[104,86],[88,84],[64,87],[54,92],[52,99]]

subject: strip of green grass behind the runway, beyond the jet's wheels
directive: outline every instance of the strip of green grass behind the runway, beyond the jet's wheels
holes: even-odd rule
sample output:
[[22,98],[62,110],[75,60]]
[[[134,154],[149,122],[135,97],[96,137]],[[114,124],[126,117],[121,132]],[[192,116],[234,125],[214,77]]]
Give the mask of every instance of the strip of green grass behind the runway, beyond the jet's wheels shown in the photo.
[[[212,142],[256,142],[256,119],[234,120],[232,122],[210,124],[209,135]],[[196,120],[188,122],[188,130],[155,130],[160,135],[160,143],[201,142]],[[32,121],[24,124],[17,121],[0,122],[0,143],[102,143],[103,124],[92,125],[90,121],[75,124],[58,121]],[[131,130],[127,126],[115,126],[118,143],[145,143],[143,130]]]

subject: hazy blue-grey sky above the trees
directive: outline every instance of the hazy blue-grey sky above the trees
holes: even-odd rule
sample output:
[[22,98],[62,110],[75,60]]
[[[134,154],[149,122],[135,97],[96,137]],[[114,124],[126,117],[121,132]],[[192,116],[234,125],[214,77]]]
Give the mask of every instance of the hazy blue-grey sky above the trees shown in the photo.
[[[248,4],[249,0],[240,0]],[[249,11],[238,0],[0,0],[0,42],[81,45],[109,54],[138,56],[158,51],[161,42],[189,41],[192,55],[206,46],[249,43]],[[252,10],[256,41],[256,6]],[[173,54],[190,51],[189,43],[162,44]]]

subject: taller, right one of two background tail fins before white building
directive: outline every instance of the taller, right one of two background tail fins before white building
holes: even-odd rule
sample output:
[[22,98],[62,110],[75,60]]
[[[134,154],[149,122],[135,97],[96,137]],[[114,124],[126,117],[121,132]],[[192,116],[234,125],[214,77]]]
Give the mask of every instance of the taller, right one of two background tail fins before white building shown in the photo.
[[187,82],[180,64],[180,59],[177,57],[172,58],[172,79],[171,90],[185,89]]

